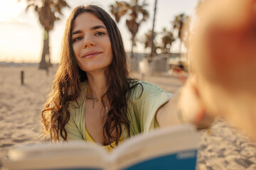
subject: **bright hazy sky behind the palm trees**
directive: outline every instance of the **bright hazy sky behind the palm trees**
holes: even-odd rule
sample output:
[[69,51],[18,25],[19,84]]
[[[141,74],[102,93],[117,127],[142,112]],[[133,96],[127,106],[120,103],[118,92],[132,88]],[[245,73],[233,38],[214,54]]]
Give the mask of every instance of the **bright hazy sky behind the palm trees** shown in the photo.
[[[126,0],[129,2],[129,0]],[[50,31],[50,57],[53,63],[60,61],[60,44],[63,38],[65,21],[73,8],[79,5],[96,4],[110,13],[110,4],[114,0],[67,0],[70,8],[63,10],[64,16],[61,21],[55,23],[55,28]],[[139,0],[142,3],[142,0]],[[142,23],[137,33],[137,39],[143,40],[153,25],[154,0],[146,1],[149,11],[149,19]],[[193,16],[194,9],[198,0],[158,0],[155,31],[161,32],[163,28],[170,30],[171,21],[179,13],[186,13]],[[40,62],[43,49],[43,28],[41,27],[38,16],[33,8],[26,12],[26,0],[0,0],[0,62]],[[131,49],[131,34],[125,26],[125,18],[121,18],[117,23],[122,38],[124,48],[127,52]],[[178,40],[171,47],[172,52],[178,52]],[[135,52],[145,52],[144,45],[137,42]]]

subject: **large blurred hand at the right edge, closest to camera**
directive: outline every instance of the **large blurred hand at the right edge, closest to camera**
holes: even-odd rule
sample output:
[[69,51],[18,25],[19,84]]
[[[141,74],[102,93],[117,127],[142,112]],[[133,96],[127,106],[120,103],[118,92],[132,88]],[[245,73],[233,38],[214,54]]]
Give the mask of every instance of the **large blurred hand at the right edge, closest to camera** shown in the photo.
[[190,57],[202,105],[256,140],[256,0],[205,0],[199,13]]

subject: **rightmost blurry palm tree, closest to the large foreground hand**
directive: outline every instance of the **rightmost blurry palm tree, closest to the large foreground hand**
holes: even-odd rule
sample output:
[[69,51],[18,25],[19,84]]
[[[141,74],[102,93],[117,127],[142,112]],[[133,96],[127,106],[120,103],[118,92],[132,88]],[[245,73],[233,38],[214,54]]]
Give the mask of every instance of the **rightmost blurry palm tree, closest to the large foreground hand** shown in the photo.
[[173,23],[174,30],[178,30],[178,39],[180,40],[180,57],[181,57],[181,45],[182,45],[182,29],[183,29],[183,23],[186,20],[185,13],[180,13],[178,16],[175,16]]

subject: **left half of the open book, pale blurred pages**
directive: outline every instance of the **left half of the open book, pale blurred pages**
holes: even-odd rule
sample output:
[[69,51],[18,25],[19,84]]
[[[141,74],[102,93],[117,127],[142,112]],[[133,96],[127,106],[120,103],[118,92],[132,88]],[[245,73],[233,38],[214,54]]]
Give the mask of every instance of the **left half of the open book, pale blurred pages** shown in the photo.
[[16,147],[9,152],[11,169],[104,169],[104,148],[84,141],[43,143]]

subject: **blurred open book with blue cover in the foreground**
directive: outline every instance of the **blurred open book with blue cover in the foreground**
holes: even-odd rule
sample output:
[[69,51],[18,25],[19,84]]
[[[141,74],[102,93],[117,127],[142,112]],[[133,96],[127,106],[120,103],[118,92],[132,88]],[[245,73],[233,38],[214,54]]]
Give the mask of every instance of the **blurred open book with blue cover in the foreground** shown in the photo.
[[196,169],[199,134],[192,125],[159,128],[122,142],[112,152],[73,141],[16,147],[8,169]]

